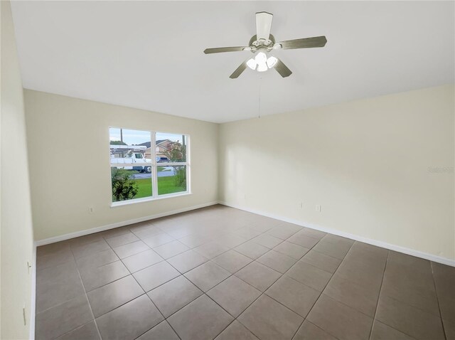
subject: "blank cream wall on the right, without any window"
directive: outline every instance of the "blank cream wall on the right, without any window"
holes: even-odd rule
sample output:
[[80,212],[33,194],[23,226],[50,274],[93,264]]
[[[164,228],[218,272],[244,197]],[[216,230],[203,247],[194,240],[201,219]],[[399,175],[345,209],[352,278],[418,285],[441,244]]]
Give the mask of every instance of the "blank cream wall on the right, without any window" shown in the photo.
[[453,85],[221,124],[219,143],[221,201],[455,258]]

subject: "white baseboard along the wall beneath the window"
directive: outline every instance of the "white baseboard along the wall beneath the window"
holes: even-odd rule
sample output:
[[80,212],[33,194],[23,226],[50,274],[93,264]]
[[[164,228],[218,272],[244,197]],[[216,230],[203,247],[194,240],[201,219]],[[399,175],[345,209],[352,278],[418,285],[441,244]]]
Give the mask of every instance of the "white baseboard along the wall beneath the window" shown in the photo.
[[195,210],[195,209],[199,209],[199,208],[205,208],[207,206],[214,206],[215,204],[218,204],[218,201],[203,203],[203,204],[199,204],[198,206],[189,206],[186,208],[181,208],[181,209],[177,209],[177,210],[173,210],[173,211],[167,211],[166,213],[156,213],[156,214],[150,215],[150,216],[133,218],[132,220],[121,221],[121,222],[112,223],[112,224],[108,224],[108,225],[102,225],[102,226],[96,227],[96,228],[75,231],[74,233],[58,235],[53,238],[45,238],[43,240],[37,240],[37,241],[35,241],[35,246],[39,247],[40,245],[48,245],[50,243],[69,240],[70,238],[78,238],[80,236],[85,236],[85,235],[89,235],[89,234],[93,234],[93,233],[100,233],[100,231],[119,228],[119,227],[123,227],[124,225],[129,225],[129,224],[133,224],[133,223],[149,221],[149,220],[153,220],[154,218],[175,215],[176,213],[184,213],[186,211],[191,211],[191,210]]

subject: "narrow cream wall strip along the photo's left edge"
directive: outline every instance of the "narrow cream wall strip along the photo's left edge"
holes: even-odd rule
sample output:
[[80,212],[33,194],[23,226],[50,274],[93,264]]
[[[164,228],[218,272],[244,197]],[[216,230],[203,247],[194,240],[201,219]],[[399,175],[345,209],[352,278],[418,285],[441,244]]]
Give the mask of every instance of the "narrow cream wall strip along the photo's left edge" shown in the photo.
[[[1,339],[28,339],[33,230],[26,122],[13,19],[1,1]],[[26,325],[23,323],[26,309]]]

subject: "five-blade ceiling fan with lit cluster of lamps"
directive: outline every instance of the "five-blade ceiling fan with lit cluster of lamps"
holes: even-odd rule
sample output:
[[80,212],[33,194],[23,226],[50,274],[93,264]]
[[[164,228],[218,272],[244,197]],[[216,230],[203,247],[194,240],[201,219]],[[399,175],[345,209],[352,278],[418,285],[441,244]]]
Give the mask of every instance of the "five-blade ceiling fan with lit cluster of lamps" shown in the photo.
[[235,47],[218,47],[206,48],[205,54],[210,53],[223,53],[223,52],[238,52],[238,51],[251,51],[255,53],[255,58],[245,60],[237,70],[230,75],[229,78],[235,79],[247,68],[257,70],[258,72],[267,71],[269,68],[274,68],[283,77],[289,77],[291,70],[286,65],[274,57],[273,55],[267,58],[267,53],[273,50],[291,50],[295,48],[314,48],[326,46],[327,39],[325,36],[315,36],[313,38],[301,38],[287,41],[280,41],[275,43],[275,38],[270,34],[272,28],[273,14],[267,12],[258,12],[256,14],[256,35],[252,36],[248,46],[235,46]]

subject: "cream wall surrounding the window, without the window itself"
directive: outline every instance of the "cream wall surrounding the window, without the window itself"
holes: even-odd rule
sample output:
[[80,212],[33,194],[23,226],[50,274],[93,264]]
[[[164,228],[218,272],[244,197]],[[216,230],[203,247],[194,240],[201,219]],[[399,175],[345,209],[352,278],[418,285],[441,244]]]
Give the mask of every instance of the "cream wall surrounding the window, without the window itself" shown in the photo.
[[[218,124],[31,90],[25,102],[36,240],[217,201]],[[111,208],[109,126],[190,134],[193,193]]]

